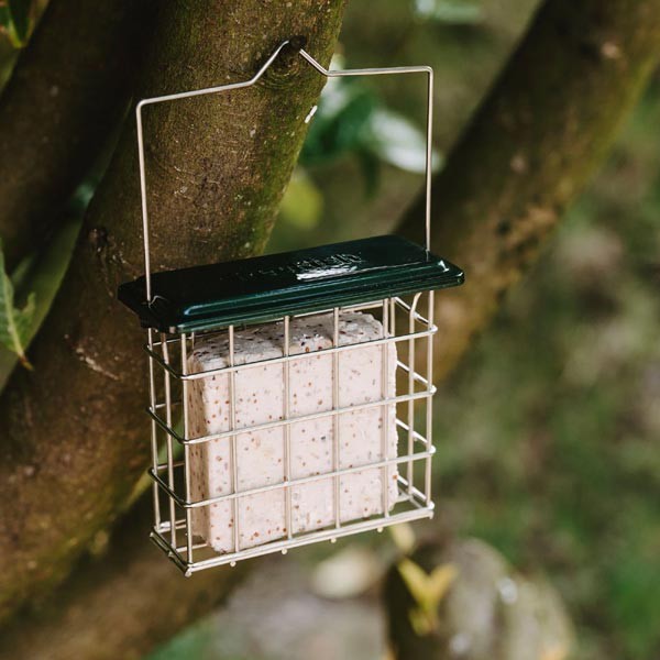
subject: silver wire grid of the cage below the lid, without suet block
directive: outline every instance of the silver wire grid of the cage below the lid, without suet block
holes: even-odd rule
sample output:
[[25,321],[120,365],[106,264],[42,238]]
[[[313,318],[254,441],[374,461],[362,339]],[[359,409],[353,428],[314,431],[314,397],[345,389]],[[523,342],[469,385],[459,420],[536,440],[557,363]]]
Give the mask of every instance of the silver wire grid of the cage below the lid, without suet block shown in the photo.
[[[431,457],[432,447],[432,419],[431,397],[436,392],[432,385],[432,338],[436,327],[432,315],[432,292],[424,295],[427,301],[427,316],[419,310],[422,294],[416,294],[409,301],[403,298],[387,298],[364,305],[332,308],[314,312],[314,316],[328,314],[332,316],[332,345],[328,349],[311,351],[309,353],[289,354],[290,323],[296,317],[278,319],[284,326],[284,340],[282,356],[256,360],[237,365],[234,355],[234,334],[237,329],[229,326],[223,332],[229,337],[229,354],[227,366],[207,371],[189,372],[188,355],[194,342],[198,338],[189,334],[165,336],[155,338],[153,330],[148,330],[151,341],[145,345],[150,362],[151,405],[147,413],[152,424],[152,453],[153,463],[148,471],[153,480],[154,497],[154,527],[151,537],[167,556],[185,572],[186,575],[220,564],[235,564],[238,560],[257,557],[271,552],[286,553],[289,548],[305,546],[316,541],[334,541],[339,537],[365,531],[370,529],[382,530],[388,525],[404,520],[431,517],[433,503],[431,502]],[[378,314],[383,323],[383,337],[360,343],[340,345],[339,320],[345,312],[371,311]],[[398,334],[397,334],[398,330]],[[213,331],[217,332],[217,331]],[[397,392],[394,396],[387,395],[387,377],[389,365],[388,346],[397,344],[397,362],[395,369]],[[360,405],[339,405],[341,388],[339,355],[365,346],[380,346],[382,349],[382,384],[377,399]],[[416,361],[421,352],[426,353],[424,370],[416,369]],[[317,411],[308,415],[290,414],[290,386],[289,367],[294,361],[307,360],[318,355],[332,356],[332,388],[333,400],[330,410]],[[177,365],[180,364],[180,366]],[[235,375],[242,370],[254,369],[271,364],[283,365],[284,410],[283,419],[254,426],[237,427],[235,424]],[[425,372],[424,374],[421,372]],[[217,433],[195,437],[190,433],[190,411],[188,409],[188,387],[195,381],[229,375],[230,384],[230,429]],[[422,419],[419,420],[419,407],[424,405]],[[258,403],[256,404],[258,405]],[[395,424],[397,431],[397,455],[388,454],[389,420],[388,411],[395,407]],[[383,425],[381,429],[381,455],[371,462],[361,463],[352,468],[341,468],[341,433],[339,419],[342,415],[367,408],[382,408]],[[424,432],[416,429],[416,417]],[[304,477],[292,477],[290,465],[290,428],[294,424],[314,419],[331,418],[332,433],[332,470]],[[179,420],[179,424],[177,424]],[[264,429],[282,428],[284,479],[268,485],[241,490],[239,487],[238,471],[240,461],[237,458],[237,438],[244,433],[256,432]],[[213,440],[229,442],[231,448],[231,492],[228,494],[209,496],[196,499],[191,496],[190,451],[196,446],[201,446]],[[178,448],[178,450],[177,450]],[[183,452],[183,455],[182,455]],[[421,469],[416,471],[416,464]],[[339,487],[344,475],[378,470],[381,474],[382,512],[370,516],[369,519],[342,520]],[[398,470],[397,497],[389,502],[389,477],[392,470]],[[416,474],[417,473],[417,474]],[[333,520],[321,529],[311,531],[294,530],[292,525],[292,491],[293,488],[320,481],[333,482]],[[241,498],[265,493],[284,492],[286,535],[284,538],[261,546],[241,548],[240,530],[241,516],[239,503]],[[193,510],[210,507],[215,504],[231,503],[233,520],[233,552],[218,553],[204,539],[196,537],[193,526]]]

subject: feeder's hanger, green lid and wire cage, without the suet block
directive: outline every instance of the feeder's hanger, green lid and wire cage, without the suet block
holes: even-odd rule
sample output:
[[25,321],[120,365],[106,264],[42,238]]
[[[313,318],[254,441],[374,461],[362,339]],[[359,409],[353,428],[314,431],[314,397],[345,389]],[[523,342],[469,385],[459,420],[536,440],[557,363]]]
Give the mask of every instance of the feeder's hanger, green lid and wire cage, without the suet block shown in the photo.
[[[425,74],[427,76],[425,246],[420,248],[395,237],[378,237],[284,255],[262,256],[152,274],[143,109],[146,106],[162,102],[249,88],[262,78],[285,47],[297,51],[299,56],[328,78],[399,74]],[[151,418],[152,430],[152,465],[148,474],[153,480],[155,515],[151,538],[186,575],[213,565],[226,563],[233,565],[238,560],[270,552],[286,553],[289,548],[321,540],[336,541],[340,537],[367,529],[381,531],[384,527],[396,522],[428,518],[433,515],[431,458],[435,448],[432,446],[431,399],[436,393],[432,385],[432,341],[437,332],[437,327],[433,324],[433,289],[461,284],[463,273],[446,260],[433,256],[430,252],[432,92],[433,72],[428,66],[331,70],[321,66],[304,48],[293,46],[290,41],[285,41],[249,80],[147,98],[138,103],[135,114],[145,274],[144,277],[133,283],[122,285],[119,297],[139,315],[142,324],[147,328],[145,345],[148,355],[150,378],[147,414]],[[326,279],[322,276],[316,276],[315,279],[315,266],[322,271],[328,264],[331,276]],[[245,272],[250,272],[251,277],[246,277],[246,282],[243,284],[237,285],[234,280],[241,280],[240,275]],[[312,275],[308,276],[310,272]],[[257,273],[258,276],[252,277],[254,273]],[[307,279],[305,279],[306,276],[308,276]],[[292,280],[297,277],[301,278],[302,284],[296,288]],[[239,289],[233,297],[223,289],[222,282],[226,280],[232,282],[232,289],[237,287]],[[162,295],[164,292],[167,294]],[[198,295],[198,299],[190,301],[187,299],[190,292],[201,293]],[[424,294],[426,294],[426,316],[419,310]],[[407,300],[406,297],[408,297]],[[239,307],[240,305],[243,307]],[[366,342],[341,344],[339,337],[341,319],[344,315],[356,311],[371,311],[376,315],[382,323],[382,337]],[[292,321],[318,315],[332,315],[332,346],[310,353],[290,354]],[[398,322],[397,318],[400,319]],[[282,355],[235,364],[237,332],[243,331],[242,328],[246,326],[263,322],[280,323],[283,328]],[[397,334],[397,327],[400,331],[402,326],[404,326],[404,332]],[[188,356],[195,346],[196,337],[199,337],[200,333],[216,332],[228,338],[228,364],[218,369],[190,372]],[[426,342],[424,374],[416,369],[419,342]],[[394,396],[387,394],[391,366],[388,359],[392,344],[402,346],[407,358],[406,361],[397,358],[394,365],[395,377],[405,384],[407,392]],[[340,356],[350,355],[350,351],[365,348],[382,349],[382,396],[365,404],[340,407]],[[308,360],[318,355],[329,356],[332,360],[332,408],[309,415],[292,416],[290,365],[295,361]],[[177,363],[180,364],[179,367],[177,367]],[[283,369],[283,419],[238,427],[234,399],[237,375],[244,370],[276,364],[282,364]],[[160,370],[161,383],[156,378],[156,370]],[[200,378],[223,375],[229,378],[230,428],[217,433],[193,437],[189,428],[188,388]],[[415,429],[416,405],[424,407],[424,433]],[[180,409],[183,428],[175,424],[176,408]],[[344,468],[341,465],[339,420],[342,415],[352,415],[371,408],[382,410],[381,458],[366,464]],[[397,444],[398,448],[405,449],[405,451],[398,451],[396,457],[388,455],[387,451],[387,425],[392,408],[395,410]],[[405,420],[399,418],[399,411],[403,411],[400,417]],[[333,424],[332,471],[294,479],[290,457],[292,425],[322,418],[330,418]],[[261,487],[239,490],[238,436],[274,428],[283,429],[284,479]],[[164,441],[161,436],[164,436]],[[196,501],[191,495],[190,452],[193,448],[213,440],[230,443],[231,492]],[[178,460],[175,455],[175,442],[183,448],[183,460]],[[416,464],[422,465],[424,473],[417,480],[415,476]],[[405,475],[395,472],[399,466],[405,468]],[[339,510],[342,476],[370,470],[378,470],[381,473],[382,513],[366,520],[343,521]],[[395,503],[389,502],[388,490],[393,472],[396,476],[398,492]],[[297,534],[292,524],[292,490],[302,484],[320,481],[333,482],[333,522],[323,529]],[[418,485],[416,485],[416,481]],[[262,546],[241,548],[240,501],[268,492],[284,493],[285,538]],[[217,553],[208,543],[196,540],[191,517],[194,509],[223,502],[232,505],[233,520],[235,521],[233,526],[234,551]],[[394,508],[391,505],[395,505]],[[396,507],[399,505],[403,505],[403,510],[397,510]],[[199,558],[199,554],[202,557]]]

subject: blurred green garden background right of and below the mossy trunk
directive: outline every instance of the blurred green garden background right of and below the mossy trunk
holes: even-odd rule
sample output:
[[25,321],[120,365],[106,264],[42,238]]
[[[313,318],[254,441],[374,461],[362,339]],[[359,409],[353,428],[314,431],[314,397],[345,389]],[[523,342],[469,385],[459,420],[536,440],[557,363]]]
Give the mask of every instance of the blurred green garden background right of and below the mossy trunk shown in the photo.
[[[334,65],[431,64],[441,167],[536,4],[352,0]],[[424,91],[326,89],[271,251],[395,229],[420,187]],[[657,75],[436,404],[433,532],[547,579],[575,629],[571,657],[587,660],[660,657],[659,125]],[[383,657],[377,584],[394,544],[378,541],[267,561],[153,660]]]

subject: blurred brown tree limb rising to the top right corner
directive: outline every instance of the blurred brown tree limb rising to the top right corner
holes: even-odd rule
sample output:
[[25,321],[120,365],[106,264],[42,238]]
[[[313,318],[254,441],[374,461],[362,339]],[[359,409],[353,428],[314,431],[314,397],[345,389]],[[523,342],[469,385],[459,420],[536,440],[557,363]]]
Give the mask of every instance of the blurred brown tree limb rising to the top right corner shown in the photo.
[[[436,297],[447,374],[602,163],[660,55],[660,0],[548,0],[436,176],[433,250],[465,271]],[[418,200],[402,224],[416,238]]]

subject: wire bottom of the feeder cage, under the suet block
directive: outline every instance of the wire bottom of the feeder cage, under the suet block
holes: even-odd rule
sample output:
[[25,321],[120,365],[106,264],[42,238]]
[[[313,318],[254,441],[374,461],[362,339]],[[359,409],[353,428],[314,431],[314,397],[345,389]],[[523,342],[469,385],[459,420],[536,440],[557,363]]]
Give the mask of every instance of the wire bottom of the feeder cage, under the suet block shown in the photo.
[[[169,522],[162,522],[157,528],[153,528],[150,535],[151,540],[163,550],[169,560],[180,569],[188,578],[193,573],[211,569],[221,565],[235,565],[237,562],[264,554],[280,552],[286,554],[288,550],[301,548],[311,543],[323,541],[334,542],[342,537],[361,534],[363,531],[383,531],[385,527],[391,527],[400,522],[409,522],[424,518],[433,517],[435,505],[427,501],[425,495],[417,488],[408,488],[404,479],[400,479],[399,496],[396,499],[395,506],[387,514],[378,514],[365,519],[356,519],[349,522],[341,522],[339,526],[332,525],[323,529],[314,531],[305,531],[294,535],[290,538],[270,541],[261,546],[239,550],[238,552],[218,553],[206,542],[186,543],[184,546],[173,544],[166,537],[170,535]],[[186,529],[186,520],[177,520],[175,531],[184,531]],[[188,556],[197,556],[200,559],[194,561],[188,560]]]

